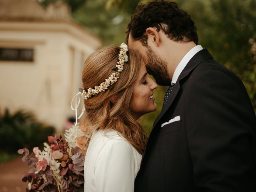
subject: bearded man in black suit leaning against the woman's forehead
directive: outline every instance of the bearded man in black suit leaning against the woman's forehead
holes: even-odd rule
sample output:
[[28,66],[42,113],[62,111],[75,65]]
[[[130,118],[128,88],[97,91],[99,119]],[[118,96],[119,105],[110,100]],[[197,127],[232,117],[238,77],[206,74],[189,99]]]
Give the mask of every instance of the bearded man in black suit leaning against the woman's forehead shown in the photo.
[[174,2],[139,5],[127,42],[142,54],[156,82],[170,86],[135,192],[255,192],[250,98],[241,80],[198,45],[190,16]]

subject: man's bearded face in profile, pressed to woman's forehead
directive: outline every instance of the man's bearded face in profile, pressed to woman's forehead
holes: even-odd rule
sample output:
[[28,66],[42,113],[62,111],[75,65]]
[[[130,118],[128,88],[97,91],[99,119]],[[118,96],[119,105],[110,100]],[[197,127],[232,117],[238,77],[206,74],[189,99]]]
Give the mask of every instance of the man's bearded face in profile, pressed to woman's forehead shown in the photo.
[[163,86],[171,84],[167,69],[167,62],[158,56],[150,46],[143,46],[139,40],[134,40],[129,35],[129,47],[138,50],[146,63],[148,74],[152,75],[156,83]]

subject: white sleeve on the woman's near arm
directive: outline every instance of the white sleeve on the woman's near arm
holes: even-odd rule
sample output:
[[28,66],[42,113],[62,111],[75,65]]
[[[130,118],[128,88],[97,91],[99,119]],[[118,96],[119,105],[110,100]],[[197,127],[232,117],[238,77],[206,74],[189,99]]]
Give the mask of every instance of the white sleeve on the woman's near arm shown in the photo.
[[125,140],[109,140],[95,162],[98,192],[134,192],[135,159]]

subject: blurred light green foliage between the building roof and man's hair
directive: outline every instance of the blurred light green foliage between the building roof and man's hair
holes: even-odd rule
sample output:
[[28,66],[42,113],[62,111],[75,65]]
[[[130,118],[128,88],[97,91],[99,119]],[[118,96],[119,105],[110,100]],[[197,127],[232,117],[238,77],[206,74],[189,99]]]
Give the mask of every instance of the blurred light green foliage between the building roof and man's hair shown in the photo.
[[99,36],[104,45],[121,44],[126,38],[125,30],[130,14],[117,7],[108,11],[105,6],[102,0],[88,0],[72,16],[92,34]]

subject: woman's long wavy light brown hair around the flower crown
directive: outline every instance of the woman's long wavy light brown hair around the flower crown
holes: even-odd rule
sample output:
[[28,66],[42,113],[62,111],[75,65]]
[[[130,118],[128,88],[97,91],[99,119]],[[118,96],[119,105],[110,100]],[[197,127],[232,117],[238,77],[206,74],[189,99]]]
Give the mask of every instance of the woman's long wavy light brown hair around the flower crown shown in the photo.
[[[83,88],[94,88],[104,82],[112,74],[118,62],[118,46],[107,46],[90,55],[83,66]],[[105,92],[84,100],[86,135],[83,145],[88,147],[92,133],[95,130],[116,130],[143,154],[147,134],[132,114],[132,93],[134,82],[138,78],[142,56],[135,50],[128,50],[128,62],[124,62],[124,70],[116,83]],[[114,104],[111,98],[115,97]]]

